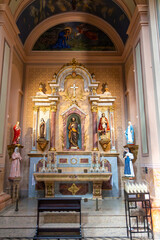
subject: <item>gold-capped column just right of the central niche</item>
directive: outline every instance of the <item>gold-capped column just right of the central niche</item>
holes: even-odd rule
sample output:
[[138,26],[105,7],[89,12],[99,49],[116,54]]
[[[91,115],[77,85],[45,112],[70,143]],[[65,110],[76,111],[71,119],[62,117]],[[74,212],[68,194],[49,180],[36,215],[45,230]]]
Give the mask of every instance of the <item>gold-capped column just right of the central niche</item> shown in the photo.
[[97,112],[98,107],[92,105],[92,127],[93,127],[93,151],[98,151],[98,129],[97,129]]

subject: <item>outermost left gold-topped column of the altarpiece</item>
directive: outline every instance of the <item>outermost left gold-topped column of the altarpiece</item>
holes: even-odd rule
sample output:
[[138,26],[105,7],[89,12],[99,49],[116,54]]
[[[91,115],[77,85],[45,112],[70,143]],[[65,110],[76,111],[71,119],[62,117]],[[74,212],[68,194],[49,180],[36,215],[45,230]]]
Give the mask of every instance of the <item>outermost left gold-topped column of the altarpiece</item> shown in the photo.
[[37,128],[38,128],[39,107],[33,107],[33,132],[32,132],[32,150],[37,150]]

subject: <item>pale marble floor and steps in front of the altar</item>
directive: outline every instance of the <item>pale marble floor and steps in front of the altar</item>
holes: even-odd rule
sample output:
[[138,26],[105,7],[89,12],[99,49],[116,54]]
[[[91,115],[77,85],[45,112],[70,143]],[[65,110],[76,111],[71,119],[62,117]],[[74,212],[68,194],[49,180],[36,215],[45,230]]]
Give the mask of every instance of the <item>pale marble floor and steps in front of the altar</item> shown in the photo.
[[[35,235],[37,219],[36,199],[19,201],[0,212],[0,239],[31,239]],[[69,215],[68,215],[69,214]],[[70,223],[68,223],[70,219]],[[76,226],[77,213],[42,213],[41,226]],[[126,239],[124,201],[121,199],[82,200],[82,236],[85,240]],[[136,235],[134,239],[148,239],[147,235]]]

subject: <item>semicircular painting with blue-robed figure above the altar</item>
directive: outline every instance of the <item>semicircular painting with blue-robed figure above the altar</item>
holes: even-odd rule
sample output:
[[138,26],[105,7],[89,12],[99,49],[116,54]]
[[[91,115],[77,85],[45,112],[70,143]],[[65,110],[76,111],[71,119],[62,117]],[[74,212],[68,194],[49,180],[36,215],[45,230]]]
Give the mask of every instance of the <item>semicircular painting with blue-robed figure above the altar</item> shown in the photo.
[[64,23],[50,28],[35,43],[36,51],[115,51],[110,38],[87,23]]

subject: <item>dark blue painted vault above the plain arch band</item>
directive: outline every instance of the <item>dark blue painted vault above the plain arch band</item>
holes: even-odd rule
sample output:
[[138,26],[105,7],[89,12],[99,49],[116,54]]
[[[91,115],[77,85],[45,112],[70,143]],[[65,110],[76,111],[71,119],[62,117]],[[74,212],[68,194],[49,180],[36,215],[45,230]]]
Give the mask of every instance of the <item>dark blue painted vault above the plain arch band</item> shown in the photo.
[[127,40],[129,19],[113,0],[35,0],[17,19],[22,43],[25,43],[30,32],[43,20],[65,12],[96,15],[107,21],[118,32],[123,43]]

